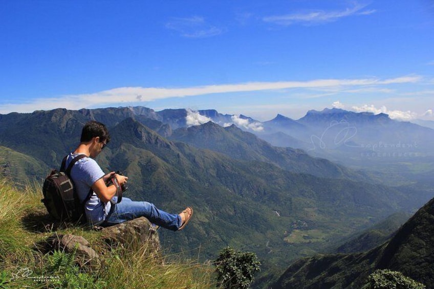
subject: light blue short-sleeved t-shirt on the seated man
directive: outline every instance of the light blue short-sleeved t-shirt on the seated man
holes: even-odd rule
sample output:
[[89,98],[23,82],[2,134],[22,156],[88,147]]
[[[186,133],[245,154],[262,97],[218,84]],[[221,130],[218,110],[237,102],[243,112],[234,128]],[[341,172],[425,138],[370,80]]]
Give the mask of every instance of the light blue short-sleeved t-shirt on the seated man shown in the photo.
[[[71,163],[71,161],[77,157],[80,153],[70,153],[68,155],[65,168]],[[71,169],[71,179],[74,181],[74,186],[78,194],[80,202],[83,202],[89,191],[96,181],[101,179],[105,173],[102,171],[97,162],[92,158],[82,158],[78,160]],[[85,204],[85,213],[88,222],[91,225],[101,224],[107,217],[112,203],[103,203],[94,192]]]

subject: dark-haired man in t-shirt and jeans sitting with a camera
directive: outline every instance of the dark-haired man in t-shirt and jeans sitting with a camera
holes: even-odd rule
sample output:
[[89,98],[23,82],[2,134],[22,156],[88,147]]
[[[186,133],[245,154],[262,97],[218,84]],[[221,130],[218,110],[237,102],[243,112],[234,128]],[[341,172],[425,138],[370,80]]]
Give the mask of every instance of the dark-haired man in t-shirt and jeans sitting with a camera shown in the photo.
[[[116,193],[119,187],[126,184],[128,177],[115,172],[105,174],[95,161],[109,141],[110,135],[105,125],[90,121],[82,129],[80,144],[67,156],[65,167],[77,155],[85,155],[73,165],[70,175],[81,203],[91,195],[84,204],[88,223],[106,227],[143,216],[151,223],[172,231],[183,229],[193,215],[190,207],[180,214],[169,214],[151,203],[136,202],[125,197],[117,203]],[[113,180],[114,184],[107,185],[112,178],[116,179]]]

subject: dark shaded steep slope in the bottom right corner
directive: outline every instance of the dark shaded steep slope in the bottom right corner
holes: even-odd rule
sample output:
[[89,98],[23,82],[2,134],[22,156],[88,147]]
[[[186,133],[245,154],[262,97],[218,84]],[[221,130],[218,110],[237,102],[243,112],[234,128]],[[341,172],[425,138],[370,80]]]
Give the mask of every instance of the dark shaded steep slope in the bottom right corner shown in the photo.
[[376,269],[399,271],[434,287],[434,199],[387,242],[370,251],[327,254],[294,262],[273,288],[361,288]]

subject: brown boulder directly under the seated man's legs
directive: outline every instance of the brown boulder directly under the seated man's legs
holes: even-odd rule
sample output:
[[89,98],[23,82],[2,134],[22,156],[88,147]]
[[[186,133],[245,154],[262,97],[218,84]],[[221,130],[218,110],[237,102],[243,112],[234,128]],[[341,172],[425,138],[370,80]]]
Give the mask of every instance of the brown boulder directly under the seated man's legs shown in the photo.
[[145,217],[104,228],[105,242],[112,248],[123,246],[129,250],[143,250],[154,257],[161,257],[160,238],[155,227]]

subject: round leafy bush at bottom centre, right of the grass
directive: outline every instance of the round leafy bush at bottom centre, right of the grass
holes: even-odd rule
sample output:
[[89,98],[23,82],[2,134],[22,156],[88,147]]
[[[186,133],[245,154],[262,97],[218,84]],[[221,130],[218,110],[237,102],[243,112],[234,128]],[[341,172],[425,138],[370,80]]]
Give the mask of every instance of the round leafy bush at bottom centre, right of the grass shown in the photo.
[[220,252],[214,262],[217,286],[225,289],[249,288],[261,263],[255,253],[235,251],[230,247]]

